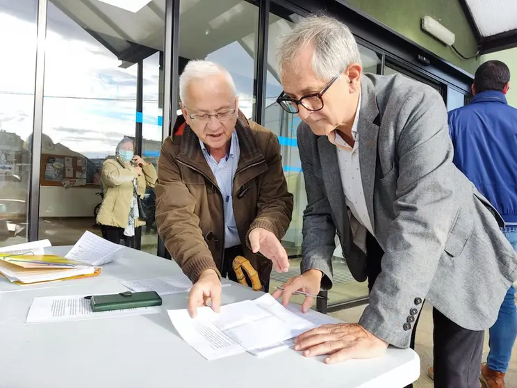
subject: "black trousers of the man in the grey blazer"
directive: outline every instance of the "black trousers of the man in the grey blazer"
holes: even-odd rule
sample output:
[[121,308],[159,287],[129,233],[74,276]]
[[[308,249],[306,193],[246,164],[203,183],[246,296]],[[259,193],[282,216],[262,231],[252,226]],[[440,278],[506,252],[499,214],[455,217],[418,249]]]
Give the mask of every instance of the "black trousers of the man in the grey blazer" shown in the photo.
[[[384,251],[371,234],[366,238],[368,257],[366,271],[368,289],[372,291],[375,280],[381,273],[381,259]],[[422,308],[423,308],[422,303]],[[420,309],[421,311],[421,309]],[[411,333],[410,348],[415,348],[416,318]],[[434,387],[436,388],[479,388],[479,373],[483,353],[484,331],[461,328],[433,308],[433,357]],[[412,388],[408,385],[406,388]]]

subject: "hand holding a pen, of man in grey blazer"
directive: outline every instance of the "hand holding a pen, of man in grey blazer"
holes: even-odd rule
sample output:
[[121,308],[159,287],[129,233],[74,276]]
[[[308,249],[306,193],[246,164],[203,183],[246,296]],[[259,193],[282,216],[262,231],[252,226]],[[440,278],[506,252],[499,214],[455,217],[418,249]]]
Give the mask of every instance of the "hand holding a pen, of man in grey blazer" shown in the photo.
[[[311,293],[312,295],[318,295],[320,292],[321,286],[321,278],[323,277],[323,273],[317,269],[307,270],[303,275],[291,277],[284,286],[284,290],[278,289],[274,291],[272,296],[275,299],[282,297],[282,305],[287,306],[289,303],[290,297],[296,291],[303,291],[305,293]],[[306,296],[304,302],[302,303],[302,312],[306,313],[309,310],[314,302],[314,298],[312,296]]]

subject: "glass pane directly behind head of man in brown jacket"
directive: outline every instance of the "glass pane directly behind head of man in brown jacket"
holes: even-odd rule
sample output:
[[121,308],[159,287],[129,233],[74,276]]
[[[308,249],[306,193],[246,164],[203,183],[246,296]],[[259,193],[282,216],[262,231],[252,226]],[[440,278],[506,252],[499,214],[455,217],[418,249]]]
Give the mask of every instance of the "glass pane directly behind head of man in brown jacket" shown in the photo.
[[258,27],[259,8],[247,1],[180,2],[180,74],[191,59],[219,63],[233,77],[239,96],[239,108],[247,118],[252,118],[254,111],[254,68]]

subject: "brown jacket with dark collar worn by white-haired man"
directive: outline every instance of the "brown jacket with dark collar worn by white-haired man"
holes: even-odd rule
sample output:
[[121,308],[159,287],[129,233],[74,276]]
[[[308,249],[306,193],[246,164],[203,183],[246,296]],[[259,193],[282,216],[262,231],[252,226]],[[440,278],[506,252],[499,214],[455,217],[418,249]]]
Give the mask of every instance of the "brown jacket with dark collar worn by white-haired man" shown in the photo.
[[[233,214],[245,257],[269,279],[272,262],[249,248],[248,234],[262,227],[280,240],[293,211],[277,136],[242,113],[236,124],[240,159],[233,179]],[[224,257],[224,209],[217,181],[199,139],[179,116],[158,159],[156,225],[165,247],[192,282],[208,269],[219,275]]]

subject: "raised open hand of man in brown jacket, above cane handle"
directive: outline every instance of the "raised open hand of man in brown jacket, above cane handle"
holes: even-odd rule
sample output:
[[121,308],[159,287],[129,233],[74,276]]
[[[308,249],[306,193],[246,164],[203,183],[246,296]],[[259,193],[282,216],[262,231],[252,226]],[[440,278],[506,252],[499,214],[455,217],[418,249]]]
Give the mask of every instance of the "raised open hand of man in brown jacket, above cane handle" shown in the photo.
[[287,272],[289,270],[287,252],[272,232],[256,227],[252,232],[249,232],[249,245],[252,246],[253,253],[261,252],[270,259],[277,272]]

